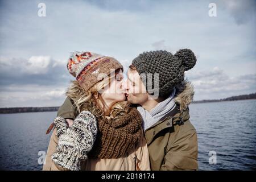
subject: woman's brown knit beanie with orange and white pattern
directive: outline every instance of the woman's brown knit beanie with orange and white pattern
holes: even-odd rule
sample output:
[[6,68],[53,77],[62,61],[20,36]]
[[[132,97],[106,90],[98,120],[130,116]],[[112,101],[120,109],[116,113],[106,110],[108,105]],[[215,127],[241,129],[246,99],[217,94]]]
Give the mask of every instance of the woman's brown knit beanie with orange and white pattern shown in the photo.
[[88,91],[94,84],[123,66],[113,57],[102,56],[93,52],[73,52],[69,57],[67,68],[76,77],[79,85]]

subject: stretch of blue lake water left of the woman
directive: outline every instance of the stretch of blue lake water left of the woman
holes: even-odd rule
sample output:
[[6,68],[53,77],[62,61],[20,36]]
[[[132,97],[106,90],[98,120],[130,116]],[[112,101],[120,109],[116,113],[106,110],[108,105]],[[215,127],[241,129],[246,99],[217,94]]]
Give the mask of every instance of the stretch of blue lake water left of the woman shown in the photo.
[[46,130],[56,112],[0,114],[0,169],[40,170],[39,151],[47,151]]

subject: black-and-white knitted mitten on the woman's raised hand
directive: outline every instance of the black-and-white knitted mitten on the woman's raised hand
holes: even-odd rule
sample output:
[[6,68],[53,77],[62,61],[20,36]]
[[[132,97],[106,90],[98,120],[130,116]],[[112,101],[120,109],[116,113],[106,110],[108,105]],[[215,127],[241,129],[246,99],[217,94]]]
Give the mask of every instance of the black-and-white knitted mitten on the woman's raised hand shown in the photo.
[[82,111],[73,125],[67,128],[64,118],[55,118],[59,143],[52,160],[58,168],[63,170],[81,170],[81,160],[87,159],[97,134],[96,118],[89,111]]

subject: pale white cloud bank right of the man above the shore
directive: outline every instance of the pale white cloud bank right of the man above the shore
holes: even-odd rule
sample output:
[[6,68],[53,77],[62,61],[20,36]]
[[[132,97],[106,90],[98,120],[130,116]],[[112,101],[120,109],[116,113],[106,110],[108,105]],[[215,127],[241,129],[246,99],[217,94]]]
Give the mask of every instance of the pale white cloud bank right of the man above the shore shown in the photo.
[[220,99],[256,92],[256,74],[230,77],[216,67],[210,71],[191,70],[186,76],[195,86],[195,100]]

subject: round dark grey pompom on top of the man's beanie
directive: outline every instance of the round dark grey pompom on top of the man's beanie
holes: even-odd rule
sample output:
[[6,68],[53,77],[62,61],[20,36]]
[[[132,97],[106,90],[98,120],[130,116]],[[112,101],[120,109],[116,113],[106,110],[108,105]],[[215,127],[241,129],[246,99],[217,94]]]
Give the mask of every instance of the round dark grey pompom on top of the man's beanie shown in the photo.
[[179,57],[179,59],[182,61],[185,71],[193,68],[196,64],[196,56],[191,49],[180,49],[175,53],[174,56]]

